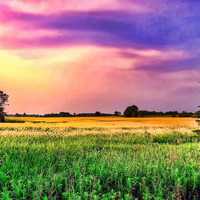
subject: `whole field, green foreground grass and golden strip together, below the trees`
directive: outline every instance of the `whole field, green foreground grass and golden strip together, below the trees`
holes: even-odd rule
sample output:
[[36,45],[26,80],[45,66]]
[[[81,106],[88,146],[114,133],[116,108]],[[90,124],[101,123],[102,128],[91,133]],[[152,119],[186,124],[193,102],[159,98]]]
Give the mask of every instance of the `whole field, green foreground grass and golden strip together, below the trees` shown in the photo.
[[200,199],[195,119],[7,120],[0,199]]

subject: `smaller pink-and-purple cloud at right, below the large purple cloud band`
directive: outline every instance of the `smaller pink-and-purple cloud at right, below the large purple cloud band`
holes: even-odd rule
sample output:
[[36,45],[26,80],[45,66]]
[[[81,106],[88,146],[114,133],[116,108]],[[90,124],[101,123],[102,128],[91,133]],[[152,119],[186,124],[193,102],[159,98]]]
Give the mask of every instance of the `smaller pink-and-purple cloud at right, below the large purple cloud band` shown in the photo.
[[130,71],[151,74],[178,73],[181,71],[200,71],[199,53],[186,50],[122,50],[119,55],[135,60]]

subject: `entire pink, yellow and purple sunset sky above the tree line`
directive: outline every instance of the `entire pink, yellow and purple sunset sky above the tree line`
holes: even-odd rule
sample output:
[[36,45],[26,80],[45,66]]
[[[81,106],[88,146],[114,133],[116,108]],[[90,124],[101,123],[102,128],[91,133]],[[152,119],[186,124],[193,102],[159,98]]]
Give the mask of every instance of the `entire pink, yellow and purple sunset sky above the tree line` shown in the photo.
[[9,113],[194,111],[199,0],[0,0]]

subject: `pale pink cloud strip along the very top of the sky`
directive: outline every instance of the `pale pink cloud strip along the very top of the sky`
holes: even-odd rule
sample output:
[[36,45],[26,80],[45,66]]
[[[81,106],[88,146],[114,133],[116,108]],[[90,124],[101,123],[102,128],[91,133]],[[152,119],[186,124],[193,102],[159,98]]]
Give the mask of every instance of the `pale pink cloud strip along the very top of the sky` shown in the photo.
[[150,7],[138,2],[119,0],[30,0],[8,1],[9,5],[26,11],[56,12],[56,11],[91,11],[91,10],[129,10],[134,12],[150,12]]

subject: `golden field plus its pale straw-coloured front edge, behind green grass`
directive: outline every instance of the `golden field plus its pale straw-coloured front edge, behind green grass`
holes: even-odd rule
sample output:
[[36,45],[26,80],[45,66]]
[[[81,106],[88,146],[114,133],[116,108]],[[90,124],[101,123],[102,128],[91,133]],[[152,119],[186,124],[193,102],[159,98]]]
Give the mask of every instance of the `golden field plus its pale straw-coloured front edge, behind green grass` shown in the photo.
[[152,135],[193,134],[195,118],[154,117],[7,117],[0,124],[1,136],[15,135]]

